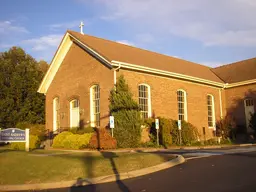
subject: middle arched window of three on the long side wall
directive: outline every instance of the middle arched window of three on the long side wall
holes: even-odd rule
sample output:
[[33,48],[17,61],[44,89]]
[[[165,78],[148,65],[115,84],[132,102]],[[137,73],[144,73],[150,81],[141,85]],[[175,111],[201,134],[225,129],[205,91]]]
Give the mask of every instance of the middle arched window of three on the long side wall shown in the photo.
[[184,90],[177,91],[178,120],[188,120],[187,116],[187,95]]

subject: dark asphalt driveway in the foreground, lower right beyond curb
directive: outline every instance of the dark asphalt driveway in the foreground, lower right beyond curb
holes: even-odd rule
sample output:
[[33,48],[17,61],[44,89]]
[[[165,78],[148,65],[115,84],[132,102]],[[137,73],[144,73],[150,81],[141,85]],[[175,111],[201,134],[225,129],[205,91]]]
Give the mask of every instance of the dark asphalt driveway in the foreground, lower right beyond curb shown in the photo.
[[256,152],[232,153],[190,159],[182,165],[133,179],[44,191],[255,192],[255,173]]

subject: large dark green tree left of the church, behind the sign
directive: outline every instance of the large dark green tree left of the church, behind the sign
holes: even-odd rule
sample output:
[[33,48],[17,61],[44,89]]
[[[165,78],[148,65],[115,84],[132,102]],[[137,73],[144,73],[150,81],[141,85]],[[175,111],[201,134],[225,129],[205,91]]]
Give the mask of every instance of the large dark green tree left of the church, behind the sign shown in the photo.
[[37,93],[43,76],[37,61],[22,48],[0,54],[0,127],[44,123],[44,96]]

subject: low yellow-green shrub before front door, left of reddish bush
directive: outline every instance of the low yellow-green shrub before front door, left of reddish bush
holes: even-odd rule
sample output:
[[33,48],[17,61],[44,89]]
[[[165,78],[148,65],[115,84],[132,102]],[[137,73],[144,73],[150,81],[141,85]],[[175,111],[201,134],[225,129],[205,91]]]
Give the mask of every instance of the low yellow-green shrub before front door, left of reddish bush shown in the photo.
[[53,147],[65,149],[83,149],[88,147],[92,133],[73,134],[62,132],[53,139]]

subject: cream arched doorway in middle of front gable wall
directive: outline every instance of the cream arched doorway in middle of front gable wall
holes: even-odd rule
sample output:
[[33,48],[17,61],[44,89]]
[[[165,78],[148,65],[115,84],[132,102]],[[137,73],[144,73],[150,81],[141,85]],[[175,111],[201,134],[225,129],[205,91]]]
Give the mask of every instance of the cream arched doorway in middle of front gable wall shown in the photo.
[[79,127],[80,113],[79,113],[79,100],[74,99],[70,101],[70,127]]

